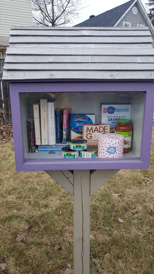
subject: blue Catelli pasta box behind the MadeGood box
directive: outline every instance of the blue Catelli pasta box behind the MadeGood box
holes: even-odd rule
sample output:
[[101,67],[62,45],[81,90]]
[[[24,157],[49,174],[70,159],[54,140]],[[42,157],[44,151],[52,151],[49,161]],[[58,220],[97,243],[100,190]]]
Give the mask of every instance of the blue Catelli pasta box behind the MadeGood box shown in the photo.
[[82,139],[83,124],[95,124],[95,114],[71,113],[71,139]]

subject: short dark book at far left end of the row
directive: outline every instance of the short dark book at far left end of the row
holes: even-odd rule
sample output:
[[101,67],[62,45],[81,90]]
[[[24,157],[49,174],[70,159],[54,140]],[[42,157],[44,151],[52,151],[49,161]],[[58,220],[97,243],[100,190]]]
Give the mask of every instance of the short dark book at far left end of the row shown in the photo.
[[35,126],[34,126],[34,120],[32,118],[29,118],[27,120],[27,134],[28,134],[29,153],[33,153],[36,151],[36,144],[35,144]]

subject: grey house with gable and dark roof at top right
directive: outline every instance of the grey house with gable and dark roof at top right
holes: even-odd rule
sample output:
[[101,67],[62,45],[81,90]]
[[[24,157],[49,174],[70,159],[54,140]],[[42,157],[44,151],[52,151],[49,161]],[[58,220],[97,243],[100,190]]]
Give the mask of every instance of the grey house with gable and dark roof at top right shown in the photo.
[[140,0],[130,0],[114,9],[107,10],[97,16],[75,26],[79,27],[149,27],[154,41],[154,27]]

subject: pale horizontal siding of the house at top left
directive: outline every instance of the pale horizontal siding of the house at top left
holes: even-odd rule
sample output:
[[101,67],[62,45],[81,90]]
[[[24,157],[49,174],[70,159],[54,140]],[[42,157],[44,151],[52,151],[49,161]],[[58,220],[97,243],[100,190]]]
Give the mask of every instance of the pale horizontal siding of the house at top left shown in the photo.
[[0,36],[9,36],[11,26],[32,26],[31,0],[0,0]]

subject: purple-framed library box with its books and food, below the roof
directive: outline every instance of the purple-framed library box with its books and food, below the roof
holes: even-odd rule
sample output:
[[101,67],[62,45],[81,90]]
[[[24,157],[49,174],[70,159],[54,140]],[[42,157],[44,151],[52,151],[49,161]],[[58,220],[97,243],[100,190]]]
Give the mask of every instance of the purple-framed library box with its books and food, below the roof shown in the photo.
[[[153,116],[151,91],[152,83],[10,84],[16,168],[148,168]],[[39,109],[37,114],[35,106]],[[118,119],[130,120],[131,134],[128,134],[131,129],[124,132],[116,129]],[[96,125],[91,127],[92,124]],[[42,133],[45,127],[46,133]],[[119,134],[117,138],[122,135],[123,147],[129,148],[121,156],[113,136],[109,138],[112,140],[106,139],[107,153],[100,149],[100,137],[103,136],[104,142],[104,136],[113,133]],[[86,146],[82,139],[86,140]]]

